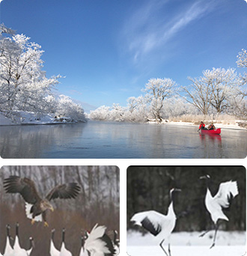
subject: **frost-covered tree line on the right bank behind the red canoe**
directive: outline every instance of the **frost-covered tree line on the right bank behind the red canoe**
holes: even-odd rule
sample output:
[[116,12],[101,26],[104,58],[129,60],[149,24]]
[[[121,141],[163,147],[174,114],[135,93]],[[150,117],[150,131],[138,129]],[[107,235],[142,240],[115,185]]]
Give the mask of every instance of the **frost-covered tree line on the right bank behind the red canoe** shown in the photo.
[[[246,50],[237,55],[238,67],[247,67]],[[190,85],[177,85],[172,79],[150,79],[143,95],[129,97],[127,106],[113,104],[91,111],[93,120],[144,122],[162,121],[183,115],[232,115],[247,120],[247,73],[234,68],[204,70],[200,77],[188,77]]]

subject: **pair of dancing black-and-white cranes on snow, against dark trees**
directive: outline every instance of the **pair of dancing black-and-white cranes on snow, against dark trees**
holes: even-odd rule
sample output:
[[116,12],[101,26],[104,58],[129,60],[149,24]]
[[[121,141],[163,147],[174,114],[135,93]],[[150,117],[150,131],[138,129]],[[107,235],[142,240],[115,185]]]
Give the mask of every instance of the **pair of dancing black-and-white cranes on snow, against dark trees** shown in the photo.
[[[216,244],[216,234],[219,228],[219,219],[224,219],[225,221],[229,221],[228,217],[223,213],[223,208],[228,208],[231,203],[231,199],[238,195],[237,181],[228,181],[225,183],[221,183],[219,186],[219,191],[213,197],[210,192],[210,176],[206,175],[200,177],[200,179],[205,179],[207,181],[207,193],[205,197],[205,205],[210,213],[211,219],[215,225],[215,234],[213,237],[213,244],[210,246],[210,249],[213,248]],[[171,232],[174,230],[176,225],[176,215],[174,213],[174,192],[180,192],[180,189],[171,189],[170,190],[170,198],[171,203],[168,207],[167,215],[163,215],[162,213],[158,213],[155,210],[144,211],[141,213],[135,213],[132,216],[131,222],[135,222],[135,225],[140,225],[145,228],[150,234],[156,237],[156,241],[159,242],[159,246],[166,256],[171,256],[170,243],[168,243],[168,252],[165,251],[162,243],[165,242],[167,238],[170,237]],[[200,237],[204,237],[207,234],[206,231],[201,234]]]

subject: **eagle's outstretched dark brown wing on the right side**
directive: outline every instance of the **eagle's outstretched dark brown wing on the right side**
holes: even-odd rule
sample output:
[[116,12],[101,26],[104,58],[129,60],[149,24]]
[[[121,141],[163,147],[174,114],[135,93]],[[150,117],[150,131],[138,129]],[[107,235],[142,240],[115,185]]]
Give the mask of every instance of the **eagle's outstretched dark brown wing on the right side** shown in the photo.
[[61,199],[69,199],[69,198],[76,198],[79,194],[81,188],[77,183],[68,183],[55,186],[48,195],[46,195],[46,199],[51,201],[55,198]]

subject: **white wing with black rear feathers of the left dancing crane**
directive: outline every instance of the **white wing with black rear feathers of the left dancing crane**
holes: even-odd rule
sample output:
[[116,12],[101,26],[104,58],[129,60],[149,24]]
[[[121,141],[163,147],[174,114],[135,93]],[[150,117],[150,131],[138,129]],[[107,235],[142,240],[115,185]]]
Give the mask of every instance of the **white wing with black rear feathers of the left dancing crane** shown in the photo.
[[157,236],[162,231],[161,223],[165,221],[165,216],[157,213],[154,210],[147,212],[136,213],[130,220],[135,222],[136,225],[141,225],[153,236]]

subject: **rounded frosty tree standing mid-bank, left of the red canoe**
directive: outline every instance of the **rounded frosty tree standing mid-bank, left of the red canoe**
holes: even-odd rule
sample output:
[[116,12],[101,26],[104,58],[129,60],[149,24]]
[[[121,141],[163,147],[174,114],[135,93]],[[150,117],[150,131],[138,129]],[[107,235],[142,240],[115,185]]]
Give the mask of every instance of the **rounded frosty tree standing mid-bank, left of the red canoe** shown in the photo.
[[165,99],[171,97],[174,93],[176,82],[172,79],[150,79],[145,88],[144,92],[150,103],[150,112],[156,121],[162,121],[162,108],[165,103]]

